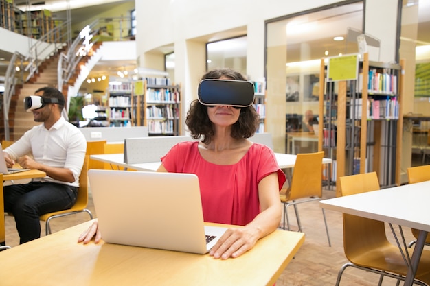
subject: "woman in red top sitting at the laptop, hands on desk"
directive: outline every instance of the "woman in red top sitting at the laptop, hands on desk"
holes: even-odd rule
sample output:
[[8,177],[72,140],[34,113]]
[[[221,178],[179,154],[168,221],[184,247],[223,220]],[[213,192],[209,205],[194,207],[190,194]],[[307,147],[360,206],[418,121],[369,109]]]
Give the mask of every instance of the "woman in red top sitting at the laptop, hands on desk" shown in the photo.
[[[214,69],[202,80],[245,78],[231,69]],[[210,250],[215,259],[239,257],[258,239],[280,224],[279,191],[286,176],[273,151],[248,140],[257,130],[259,117],[251,104],[238,107],[208,105],[194,100],[185,123],[194,139],[178,143],[161,158],[157,171],[192,173],[199,177],[205,222],[234,224]],[[95,221],[78,238],[88,243],[101,239]]]

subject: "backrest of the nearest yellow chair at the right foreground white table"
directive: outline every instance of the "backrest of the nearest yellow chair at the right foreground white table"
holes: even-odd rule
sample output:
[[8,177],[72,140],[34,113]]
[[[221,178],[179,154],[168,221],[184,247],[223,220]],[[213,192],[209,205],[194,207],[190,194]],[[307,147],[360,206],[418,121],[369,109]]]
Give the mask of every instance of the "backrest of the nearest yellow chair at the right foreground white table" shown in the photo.
[[[379,190],[376,172],[344,176],[339,178],[341,195],[354,195]],[[371,250],[389,243],[385,234],[385,224],[374,219],[343,214],[343,250],[346,257],[354,262],[354,257],[365,250]]]

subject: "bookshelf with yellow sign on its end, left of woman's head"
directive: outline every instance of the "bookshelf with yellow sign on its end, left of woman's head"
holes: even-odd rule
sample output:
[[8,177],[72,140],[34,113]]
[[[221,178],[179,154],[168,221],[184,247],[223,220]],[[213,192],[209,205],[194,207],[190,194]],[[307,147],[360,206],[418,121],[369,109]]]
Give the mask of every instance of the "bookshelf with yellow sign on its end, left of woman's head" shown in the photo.
[[150,136],[181,132],[181,86],[167,78],[145,78],[135,83],[132,114],[136,126],[147,126]]

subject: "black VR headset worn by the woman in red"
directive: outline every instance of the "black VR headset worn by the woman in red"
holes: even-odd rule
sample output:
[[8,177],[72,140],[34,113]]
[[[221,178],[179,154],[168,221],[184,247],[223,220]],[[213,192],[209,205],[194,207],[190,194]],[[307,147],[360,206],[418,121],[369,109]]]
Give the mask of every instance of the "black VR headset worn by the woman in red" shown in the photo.
[[202,80],[199,84],[199,102],[205,106],[251,106],[254,86],[245,80]]

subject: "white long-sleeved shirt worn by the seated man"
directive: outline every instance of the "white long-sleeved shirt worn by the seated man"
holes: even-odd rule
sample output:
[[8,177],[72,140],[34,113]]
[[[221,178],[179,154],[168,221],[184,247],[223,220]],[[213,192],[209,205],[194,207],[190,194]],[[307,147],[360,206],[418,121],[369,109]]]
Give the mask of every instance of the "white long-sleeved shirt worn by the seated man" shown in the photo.
[[76,126],[67,122],[64,117],[61,117],[49,130],[45,128],[43,123],[34,126],[4,151],[14,160],[32,152],[36,162],[51,167],[70,169],[75,178],[72,183],[54,180],[49,176],[34,180],[79,187],[79,175],[84,164],[86,150],[87,141],[84,134]]

